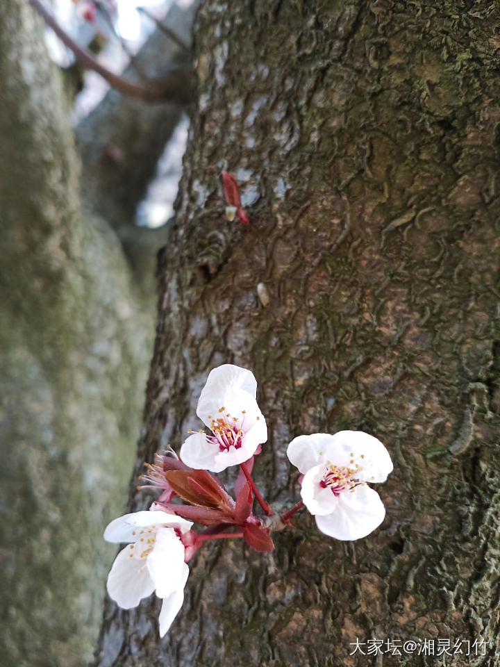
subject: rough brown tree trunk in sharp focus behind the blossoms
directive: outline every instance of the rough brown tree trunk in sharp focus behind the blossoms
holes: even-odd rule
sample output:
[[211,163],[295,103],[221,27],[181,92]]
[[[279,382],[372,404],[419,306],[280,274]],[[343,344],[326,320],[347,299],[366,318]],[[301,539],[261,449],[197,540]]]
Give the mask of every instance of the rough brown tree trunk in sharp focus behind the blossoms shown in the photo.
[[[154,597],[108,602],[99,667],[400,664],[349,656],[356,637],[485,640],[488,657],[447,664],[496,664],[499,20],[472,0],[201,3],[136,474],[199,427],[223,362],[260,382],[256,479],[276,510],[299,497],[297,434],[369,431],[395,468],[366,539],[304,513],[272,554],[203,547],[164,641]],[[224,217],[223,168],[248,229]]]

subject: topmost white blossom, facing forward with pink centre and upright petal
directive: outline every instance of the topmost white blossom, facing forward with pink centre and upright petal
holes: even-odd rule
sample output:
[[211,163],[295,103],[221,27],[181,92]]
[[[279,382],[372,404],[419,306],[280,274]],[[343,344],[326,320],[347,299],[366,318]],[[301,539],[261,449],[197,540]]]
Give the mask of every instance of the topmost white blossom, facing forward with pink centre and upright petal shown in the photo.
[[267,440],[267,426],[256,395],[256,379],[246,368],[226,363],[210,371],[197,415],[211,434],[199,431],[185,440],[181,447],[183,463],[222,472],[248,461]]

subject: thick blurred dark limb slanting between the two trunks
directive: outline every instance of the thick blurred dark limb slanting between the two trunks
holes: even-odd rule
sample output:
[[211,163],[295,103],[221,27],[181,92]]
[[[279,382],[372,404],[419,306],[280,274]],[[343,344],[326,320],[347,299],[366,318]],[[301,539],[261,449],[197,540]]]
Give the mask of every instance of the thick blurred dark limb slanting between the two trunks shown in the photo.
[[[174,4],[165,17],[165,22],[185,41],[196,6],[193,3],[184,10]],[[141,69],[158,78],[179,58],[182,58],[180,49],[167,42],[159,30],[149,36],[136,56]],[[131,67],[124,76],[134,76]],[[144,104],[110,90],[76,127],[85,203],[113,227],[135,277],[149,293],[154,291],[149,281],[153,281],[156,251],[165,244],[166,232],[161,228],[137,227],[135,210],[183,110],[184,106],[168,100]]]

